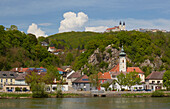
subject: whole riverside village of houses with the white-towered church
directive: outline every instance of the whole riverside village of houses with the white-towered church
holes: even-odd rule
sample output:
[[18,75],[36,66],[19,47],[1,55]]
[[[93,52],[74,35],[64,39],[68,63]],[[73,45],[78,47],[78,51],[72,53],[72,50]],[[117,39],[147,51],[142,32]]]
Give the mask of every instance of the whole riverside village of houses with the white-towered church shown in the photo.
[[[40,68],[13,68],[10,71],[0,71],[0,92],[31,92],[30,84],[27,83],[26,77],[36,73],[42,77],[48,69]],[[135,72],[133,83],[123,83],[125,76]],[[156,91],[165,90],[163,86],[163,75],[165,71],[153,71],[147,77],[139,67],[127,67],[126,53],[123,46],[119,53],[119,63],[108,72],[98,72],[93,77],[85,75],[83,72],[76,72],[71,66],[57,67],[60,79],[52,80],[53,82],[46,85],[46,92],[78,92],[78,91]],[[120,78],[124,75],[124,78]],[[136,80],[137,78],[137,80]],[[132,81],[129,81],[132,82]]]

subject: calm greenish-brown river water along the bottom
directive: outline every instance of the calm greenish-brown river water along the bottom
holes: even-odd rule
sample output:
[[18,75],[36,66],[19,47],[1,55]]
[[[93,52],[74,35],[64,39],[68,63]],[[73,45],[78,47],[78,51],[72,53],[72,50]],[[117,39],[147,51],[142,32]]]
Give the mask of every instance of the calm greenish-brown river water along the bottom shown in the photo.
[[0,99],[0,109],[170,109],[162,98],[41,98]]

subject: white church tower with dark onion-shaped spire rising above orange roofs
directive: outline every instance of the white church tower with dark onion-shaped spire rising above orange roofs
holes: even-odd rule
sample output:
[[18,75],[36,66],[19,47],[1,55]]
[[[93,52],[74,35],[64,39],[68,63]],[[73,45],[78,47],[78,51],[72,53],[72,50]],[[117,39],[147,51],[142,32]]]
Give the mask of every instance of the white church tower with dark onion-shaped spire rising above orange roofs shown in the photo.
[[119,53],[119,71],[126,72],[126,53],[124,52],[123,45]]

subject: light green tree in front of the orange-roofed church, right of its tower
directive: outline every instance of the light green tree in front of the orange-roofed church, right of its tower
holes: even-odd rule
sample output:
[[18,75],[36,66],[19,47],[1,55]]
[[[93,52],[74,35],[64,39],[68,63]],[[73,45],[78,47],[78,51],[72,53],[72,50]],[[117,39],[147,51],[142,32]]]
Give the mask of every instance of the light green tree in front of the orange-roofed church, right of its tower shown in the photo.
[[140,84],[141,79],[138,77],[137,72],[129,72],[126,74],[126,84],[131,90],[131,87],[136,84]]

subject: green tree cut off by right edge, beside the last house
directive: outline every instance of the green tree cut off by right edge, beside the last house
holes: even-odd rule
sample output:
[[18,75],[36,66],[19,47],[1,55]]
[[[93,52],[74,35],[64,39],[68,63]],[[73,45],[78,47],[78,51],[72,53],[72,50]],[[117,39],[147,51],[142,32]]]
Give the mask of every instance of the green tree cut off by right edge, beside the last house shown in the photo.
[[163,86],[170,90],[170,70],[167,70],[163,75]]

